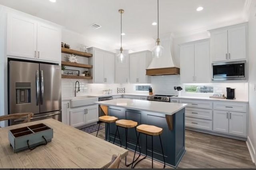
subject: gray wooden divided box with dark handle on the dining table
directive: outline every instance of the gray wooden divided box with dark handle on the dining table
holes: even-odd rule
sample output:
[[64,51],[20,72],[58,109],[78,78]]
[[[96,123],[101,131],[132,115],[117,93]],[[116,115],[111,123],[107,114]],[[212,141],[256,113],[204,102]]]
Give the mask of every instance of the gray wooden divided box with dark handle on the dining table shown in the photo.
[[8,138],[13,152],[30,149],[52,141],[53,129],[45,124],[35,124],[9,130]]

